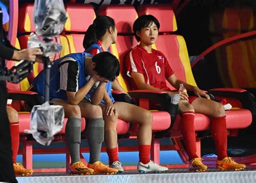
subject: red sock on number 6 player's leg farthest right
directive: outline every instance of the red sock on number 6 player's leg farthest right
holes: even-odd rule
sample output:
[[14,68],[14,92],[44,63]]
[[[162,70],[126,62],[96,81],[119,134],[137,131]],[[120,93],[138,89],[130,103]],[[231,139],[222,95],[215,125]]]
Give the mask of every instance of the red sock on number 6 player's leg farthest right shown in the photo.
[[227,157],[227,125],[226,116],[212,118],[212,138],[214,140],[218,160]]

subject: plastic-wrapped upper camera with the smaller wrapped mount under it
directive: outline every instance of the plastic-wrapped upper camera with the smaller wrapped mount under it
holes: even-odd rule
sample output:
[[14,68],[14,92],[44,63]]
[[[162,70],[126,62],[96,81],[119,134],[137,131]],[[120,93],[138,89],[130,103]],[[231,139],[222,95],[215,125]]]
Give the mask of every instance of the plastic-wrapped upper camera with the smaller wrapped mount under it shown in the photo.
[[67,18],[62,0],[36,0],[33,11],[36,34],[30,34],[28,47],[40,47],[45,57],[60,52],[62,46],[51,41],[62,32]]

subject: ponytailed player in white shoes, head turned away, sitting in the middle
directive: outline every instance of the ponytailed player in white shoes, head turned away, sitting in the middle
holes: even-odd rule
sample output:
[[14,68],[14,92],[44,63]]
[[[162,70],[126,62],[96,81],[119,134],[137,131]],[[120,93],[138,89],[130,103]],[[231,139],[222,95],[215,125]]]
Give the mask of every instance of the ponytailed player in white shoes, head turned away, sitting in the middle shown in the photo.
[[[109,51],[111,44],[116,43],[117,29],[114,20],[108,16],[98,16],[90,25],[84,37],[85,52],[95,55]],[[117,150],[117,117],[129,123],[138,123],[139,141],[139,172],[164,172],[168,168],[159,166],[150,160],[152,138],[152,114],[143,108],[125,102],[114,102],[111,95],[113,90],[124,91],[117,80],[106,85],[102,104],[105,121],[105,144],[109,155],[110,167],[117,168],[119,173],[124,170],[118,158]]]

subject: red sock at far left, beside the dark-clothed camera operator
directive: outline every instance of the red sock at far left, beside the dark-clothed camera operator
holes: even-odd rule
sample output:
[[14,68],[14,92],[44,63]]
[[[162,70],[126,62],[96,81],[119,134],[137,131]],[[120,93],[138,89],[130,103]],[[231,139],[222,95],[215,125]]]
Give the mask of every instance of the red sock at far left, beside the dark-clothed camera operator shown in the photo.
[[16,163],[19,150],[19,122],[10,123],[12,163]]

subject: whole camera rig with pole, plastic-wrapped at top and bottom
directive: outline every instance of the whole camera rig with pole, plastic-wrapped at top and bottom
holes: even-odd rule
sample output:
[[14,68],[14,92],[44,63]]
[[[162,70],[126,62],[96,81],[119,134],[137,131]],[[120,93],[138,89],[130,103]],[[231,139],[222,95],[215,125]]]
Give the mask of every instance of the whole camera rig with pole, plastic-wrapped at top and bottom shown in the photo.
[[[57,38],[62,32],[67,16],[63,0],[35,0],[33,9],[33,22],[36,34],[31,33],[28,47],[40,47],[43,56],[49,57],[62,50],[62,46],[52,43],[52,38]],[[43,58],[45,72],[45,93],[49,94],[50,61]],[[50,105],[49,96],[44,96],[45,103],[36,105],[31,111],[30,129],[33,138],[42,145],[50,145],[54,135],[58,133],[64,124],[64,109],[61,105]]]

